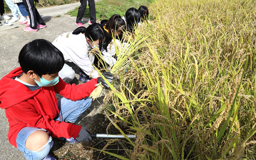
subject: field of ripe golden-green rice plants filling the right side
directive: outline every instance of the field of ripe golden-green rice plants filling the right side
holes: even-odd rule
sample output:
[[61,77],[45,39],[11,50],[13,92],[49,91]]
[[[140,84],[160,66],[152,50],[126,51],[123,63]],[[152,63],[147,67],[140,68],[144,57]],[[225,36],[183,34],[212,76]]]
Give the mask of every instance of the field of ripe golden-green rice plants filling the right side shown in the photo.
[[103,152],[122,160],[255,160],[256,1],[157,0],[149,15],[126,37],[131,45],[117,48],[105,96],[111,125],[137,139],[127,138],[125,156]]

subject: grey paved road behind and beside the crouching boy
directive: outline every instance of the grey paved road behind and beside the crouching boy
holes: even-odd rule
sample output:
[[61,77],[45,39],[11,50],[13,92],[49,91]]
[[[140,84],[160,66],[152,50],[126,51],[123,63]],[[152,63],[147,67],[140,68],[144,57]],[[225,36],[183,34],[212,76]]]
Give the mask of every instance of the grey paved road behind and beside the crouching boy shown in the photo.
[[[11,70],[19,67],[18,54],[26,43],[38,38],[52,42],[59,35],[76,29],[77,26],[74,25],[76,17],[70,17],[65,13],[79,5],[80,3],[73,3],[51,8],[39,8],[38,12],[45,20],[47,28],[37,32],[24,32],[24,25],[20,25],[19,22],[15,22],[12,26],[0,26],[0,79]],[[88,20],[87,18],[83,19],[85,27],[88,26]],[[1,22],[3,23],[4,20]],[[4,109],[0,109],[0,122],[0,160],[25,160],[23,153],[8,142],[9,126]]]

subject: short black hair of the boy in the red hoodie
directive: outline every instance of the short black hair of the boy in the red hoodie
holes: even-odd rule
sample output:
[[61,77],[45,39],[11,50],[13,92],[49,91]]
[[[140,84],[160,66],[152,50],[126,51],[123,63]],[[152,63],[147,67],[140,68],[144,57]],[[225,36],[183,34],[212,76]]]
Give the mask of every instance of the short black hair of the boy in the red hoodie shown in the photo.
[[24,73],[33,70],[40,77],[59,72],[65,63],[61,51],[45,39],[35,39],[24,45],[18,62]]

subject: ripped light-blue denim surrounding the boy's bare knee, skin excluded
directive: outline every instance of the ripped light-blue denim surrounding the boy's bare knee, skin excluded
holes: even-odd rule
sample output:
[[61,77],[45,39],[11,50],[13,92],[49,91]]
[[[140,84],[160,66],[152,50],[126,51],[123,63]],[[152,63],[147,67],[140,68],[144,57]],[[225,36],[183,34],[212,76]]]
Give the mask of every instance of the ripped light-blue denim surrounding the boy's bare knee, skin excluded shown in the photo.
[[33,132],[37,131],[37,130],[44,130],[45,129],[40,129],[40,128],[35,128],[35,127],[25,127],[23,129],[20,130],[20,132],[17,135],[17,149],[21,152],[24,152],[24,157],[27,160],[41,160],[44,157],[47,156],[47,154],[49,154],[50,149],[53,146],[53,140],[52,137],[49,136],[49,140],[46,144],[44,144],[44,146],[42,146],[40,149],[38,149],[37,151],[31,151],[29,149],[26,148],[26,140],[29,137],[29,135],[31,135]]

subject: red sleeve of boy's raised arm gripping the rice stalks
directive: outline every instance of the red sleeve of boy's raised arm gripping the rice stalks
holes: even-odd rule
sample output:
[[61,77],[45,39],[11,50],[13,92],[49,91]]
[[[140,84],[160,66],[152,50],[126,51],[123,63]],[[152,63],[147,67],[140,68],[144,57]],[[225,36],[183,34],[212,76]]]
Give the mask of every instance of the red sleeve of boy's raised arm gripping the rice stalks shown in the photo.
[[77,101],[82,98],[86,98],[87,96],[90,96],[90,93],[93,92],[93,90],[96,88],[95,84],[98,82],[98,78],[91,79],[90,81],[84,83],[84,84],[68,84],[64,82],[59,77],[59,82],[54,85],[55,93],[58,93],[62,95],[65,98],[68,98],[72,101]]

